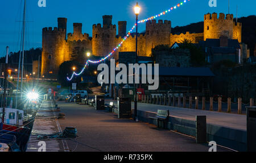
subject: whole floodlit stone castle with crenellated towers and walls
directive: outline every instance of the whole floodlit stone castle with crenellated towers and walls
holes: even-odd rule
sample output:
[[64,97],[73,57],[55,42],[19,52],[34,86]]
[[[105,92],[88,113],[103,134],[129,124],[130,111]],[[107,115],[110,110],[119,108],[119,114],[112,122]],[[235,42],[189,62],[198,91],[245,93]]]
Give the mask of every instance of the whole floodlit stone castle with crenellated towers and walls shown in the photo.
[[[58,18],[58,27],[43,28],[42,34],[42,76],[54,76],[64,61],[86,57],[90,52],[94,56],[106,56],[126,36],[126,22],[112,24],[112,15],[104,15],[103,24],[93,24],[92,37],[82,34],[82,24],[73,23],[73,34],[67,35],[67,18]],[[228,36],[229,39],[238,39],[241,43],[242,24],[233,20],[233,14],[216,13],[204,15],[204,32],[197,34],[171,34],[171,21],[148,20],[146,32],[138,34],[138,55],[151,56],[151,49],[156,45],[172,45],[184,39],[198,43],[200,40],[218,39]],[[114,53],[118,59],[118,52],[135,51],[135,34],[131,34],[123,45]]]

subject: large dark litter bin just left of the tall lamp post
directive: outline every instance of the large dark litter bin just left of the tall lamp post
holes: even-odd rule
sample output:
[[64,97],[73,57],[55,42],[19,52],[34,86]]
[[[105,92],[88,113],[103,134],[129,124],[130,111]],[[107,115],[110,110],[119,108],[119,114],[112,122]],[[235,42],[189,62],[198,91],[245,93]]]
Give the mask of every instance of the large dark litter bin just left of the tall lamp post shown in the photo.
[[131,118],[131,98],[117,98],[118,118]]

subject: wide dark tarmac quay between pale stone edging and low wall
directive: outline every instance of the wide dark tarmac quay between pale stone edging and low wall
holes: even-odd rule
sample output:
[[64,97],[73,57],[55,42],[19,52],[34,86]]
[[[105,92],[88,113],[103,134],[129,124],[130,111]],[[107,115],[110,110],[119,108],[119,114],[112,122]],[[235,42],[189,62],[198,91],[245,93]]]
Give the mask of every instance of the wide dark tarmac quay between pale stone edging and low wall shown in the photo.
[[[70,151],[205,151],[207,144],[131,119],[118,119],[113,113],[94,110],[92,106],[57,102],[65,119],[60,119],[62,129],[76,127],[76,141],[68,140]],[[217,147],[217,151],[226,151]]]

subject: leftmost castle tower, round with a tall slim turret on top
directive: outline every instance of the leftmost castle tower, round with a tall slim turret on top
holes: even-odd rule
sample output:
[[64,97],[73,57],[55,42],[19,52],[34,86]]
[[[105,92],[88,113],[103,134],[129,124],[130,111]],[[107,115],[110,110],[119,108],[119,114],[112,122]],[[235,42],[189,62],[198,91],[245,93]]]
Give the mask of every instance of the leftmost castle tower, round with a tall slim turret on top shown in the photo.
[[58,18],[58,28],[43,28],[42,39],[42,76],[53,77],[59,71],[59,66],[64,62],[67,49],[65,41],[66,29],[63,21],[66,18]]

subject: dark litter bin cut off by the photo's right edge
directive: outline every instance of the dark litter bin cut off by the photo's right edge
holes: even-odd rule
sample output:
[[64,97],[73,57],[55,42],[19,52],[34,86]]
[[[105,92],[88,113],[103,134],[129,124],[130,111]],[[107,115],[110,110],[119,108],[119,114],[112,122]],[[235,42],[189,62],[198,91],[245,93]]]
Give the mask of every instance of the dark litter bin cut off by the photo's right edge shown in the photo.
[[246,107],[247,151],[256,152],[256,106]]

